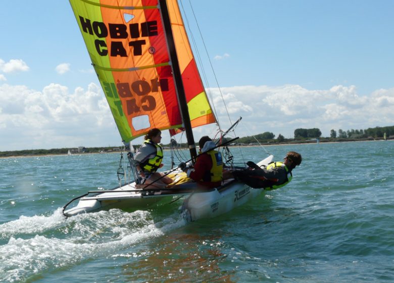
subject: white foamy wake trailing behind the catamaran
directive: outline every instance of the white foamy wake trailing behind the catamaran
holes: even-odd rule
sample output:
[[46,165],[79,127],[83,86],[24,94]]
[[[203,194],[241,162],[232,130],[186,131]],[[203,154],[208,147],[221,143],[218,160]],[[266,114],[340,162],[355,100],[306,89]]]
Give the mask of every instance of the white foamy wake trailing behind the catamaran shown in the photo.
[[21,216],[0,225],[0,281],[31,280],[87,259],[122,253],[130,246],[181,227],[179,213],[155,220],[149,211]]

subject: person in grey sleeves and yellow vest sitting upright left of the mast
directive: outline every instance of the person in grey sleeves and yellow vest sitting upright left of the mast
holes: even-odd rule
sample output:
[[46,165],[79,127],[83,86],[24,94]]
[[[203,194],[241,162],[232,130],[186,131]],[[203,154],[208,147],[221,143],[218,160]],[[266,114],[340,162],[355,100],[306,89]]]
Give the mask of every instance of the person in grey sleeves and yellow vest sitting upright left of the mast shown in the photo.
[[[139,176],[142,178],[138,187],[145,187],[152,184],[155,187],[165,187],[172,183],[172,179],[164,176],[163,173],[156,172],[163,166],[163,149],[159,145],[162,140],[162,132],[153,128],[145,135],[145,140],[138,152],[134,156],[134,166]],[[160,178],[160,180],[158,180]]]

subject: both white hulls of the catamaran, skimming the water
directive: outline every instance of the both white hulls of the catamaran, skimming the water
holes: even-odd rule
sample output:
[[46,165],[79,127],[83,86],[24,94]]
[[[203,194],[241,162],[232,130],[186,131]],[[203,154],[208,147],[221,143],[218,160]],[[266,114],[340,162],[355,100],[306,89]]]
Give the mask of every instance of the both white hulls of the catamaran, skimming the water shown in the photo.
[[[270,155],[258,163],[267,165],[273,159]],[[79,199],[77,206],[64,211],[67,217],[86,212],[118,208],[123,210],[148,209],[159,203],[169,203],[175,196],[188,196],[182,205],[182,214],[189,221],[211,218],[226,213],[262,193],[263,190],[251,188],[233,179],[225,181],[219,188],[208,192],[198,192],[193,183],[177,186],[174,190],[142,191],[135,183],[125,184],[111,191],[96,193]],[[70,203],[69,203],[70,204]],[[66,207],[68,204],[66,205]]]

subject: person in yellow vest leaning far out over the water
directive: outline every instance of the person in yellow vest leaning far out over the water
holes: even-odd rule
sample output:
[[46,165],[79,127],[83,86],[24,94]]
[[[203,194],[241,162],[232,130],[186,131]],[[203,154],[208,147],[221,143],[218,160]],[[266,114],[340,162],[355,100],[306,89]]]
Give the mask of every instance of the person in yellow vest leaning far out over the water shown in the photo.
[[260,168],[252,161],[247,165],[249,169],[232,172],[235,179],[253,188],[275,190],[286,185],[292,179],[291,171],[302,162],[301,154],[290,151],[283,158],[283,162],[272,162],[266,168]]

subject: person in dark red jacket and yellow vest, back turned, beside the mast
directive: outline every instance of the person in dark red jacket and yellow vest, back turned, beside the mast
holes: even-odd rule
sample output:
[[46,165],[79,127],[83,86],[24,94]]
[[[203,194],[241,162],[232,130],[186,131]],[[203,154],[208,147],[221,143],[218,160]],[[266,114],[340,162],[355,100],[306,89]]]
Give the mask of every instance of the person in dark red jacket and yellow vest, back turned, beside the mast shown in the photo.
[[222,154],[216,150],[216,144],[205,135],[199,140],[200,155],[197,157],[194,167],[187,169],[184,163],[179,168],[185,171],[187,177],[196,181],[200,186],[213,188],[221,185],[223,180]]

